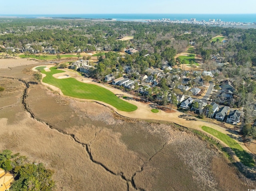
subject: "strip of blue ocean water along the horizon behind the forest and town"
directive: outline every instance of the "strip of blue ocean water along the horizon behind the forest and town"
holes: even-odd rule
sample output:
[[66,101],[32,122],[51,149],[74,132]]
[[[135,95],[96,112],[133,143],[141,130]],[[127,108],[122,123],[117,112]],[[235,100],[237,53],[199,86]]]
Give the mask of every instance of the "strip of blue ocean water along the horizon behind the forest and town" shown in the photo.
[[38,14],[38,15],[0,15],[15,16],[19,18],[42,18],[42,17],[66,17],[66,18],[88,18],[88,19],[114,19],[117,21],[144,21],[167,18],[170,20],[182,20],[196,18],[197,21],[209,19],[220,19],[225,22],[256,22],[256,14]]

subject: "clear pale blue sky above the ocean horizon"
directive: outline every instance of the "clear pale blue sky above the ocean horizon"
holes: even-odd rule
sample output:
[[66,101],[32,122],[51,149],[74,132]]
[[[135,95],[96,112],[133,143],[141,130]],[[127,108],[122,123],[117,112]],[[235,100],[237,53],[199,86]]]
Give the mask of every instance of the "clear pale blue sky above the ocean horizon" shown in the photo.
[[2,14],[249,14],[256,0],[3,0]]

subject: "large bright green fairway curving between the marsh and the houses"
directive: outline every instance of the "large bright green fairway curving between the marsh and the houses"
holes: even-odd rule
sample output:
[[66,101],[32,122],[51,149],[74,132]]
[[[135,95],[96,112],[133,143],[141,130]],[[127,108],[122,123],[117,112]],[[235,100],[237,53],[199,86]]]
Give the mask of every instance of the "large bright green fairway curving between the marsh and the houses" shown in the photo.
[[82,83],[74,78],[56,79],[52,75],[56,73],[63,73],[64,71],[57,70],[57,67],[52,67],[50,68],[50,72],[46,72],[44,68],[45,66],[36,68],[37,70],[39,69],[41,73],[46,74],[46,77],[44,77],[42,81],[58,87],[64,95],[74,98],[102,101],[121,111],[130,112],[137,109],[137,106],[118,98],[114,93],[103,87],[94,84]]

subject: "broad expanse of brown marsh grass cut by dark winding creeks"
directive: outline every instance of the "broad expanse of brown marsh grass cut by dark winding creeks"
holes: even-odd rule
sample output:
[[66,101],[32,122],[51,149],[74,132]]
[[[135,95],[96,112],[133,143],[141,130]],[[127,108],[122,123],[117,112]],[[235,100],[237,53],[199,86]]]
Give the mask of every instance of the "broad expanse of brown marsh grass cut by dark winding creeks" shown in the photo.
[[[32,78],[17,68],[13,73],[6,70],[6,74]],[[20,84],[14,80],[10,85],[15,89]],[[6,96],[9,102],[0,97],[0,103],[7,106],[0,109],[0,150],[20,152],[54,169],[56,190],[122,191],[129,185],[129,191],[134,191],[132,183],[120,175],[130,179],[135,173],[136,187],[147,191],[222,190],[228,182],[222,178],[225,171],[221,171],[220,161],[224,159],[219,152],[172,124],[122,118],[105,106],[31,85],[26,103],[36,120],[24,111],[21,96],[20,90],[15,96]],[[94,163],[78,142],[88,144],[95,161],[120,175]],[[214,164],[214,156],[220,167]],[[236,177],[234,171],[228,174]]]

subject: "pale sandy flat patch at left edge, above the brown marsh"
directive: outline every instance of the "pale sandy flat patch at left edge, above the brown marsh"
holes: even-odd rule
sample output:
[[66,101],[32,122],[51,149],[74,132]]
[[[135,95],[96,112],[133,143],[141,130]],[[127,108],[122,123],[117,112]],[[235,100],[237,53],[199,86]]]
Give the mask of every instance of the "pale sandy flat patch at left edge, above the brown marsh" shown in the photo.
[[28,60],[26,58],[20,58],[20,57],[0,59],[0,69],[6,69],[8,67],[16,67],[16,66],[22,66],[22,65],[32,65],[32,64],[38,64],[38,62],[34,60]]

